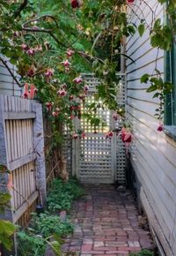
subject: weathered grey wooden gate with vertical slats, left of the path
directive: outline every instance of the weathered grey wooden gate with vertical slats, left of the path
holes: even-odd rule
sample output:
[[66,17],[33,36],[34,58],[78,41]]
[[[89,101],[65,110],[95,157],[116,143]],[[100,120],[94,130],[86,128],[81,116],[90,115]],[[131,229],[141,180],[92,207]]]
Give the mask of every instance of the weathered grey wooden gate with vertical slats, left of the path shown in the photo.
[[40,103],[0,95],[0,191],[9,184],[11,209],[4,218],[26,224],[39,196],[45,199],[44,134]]

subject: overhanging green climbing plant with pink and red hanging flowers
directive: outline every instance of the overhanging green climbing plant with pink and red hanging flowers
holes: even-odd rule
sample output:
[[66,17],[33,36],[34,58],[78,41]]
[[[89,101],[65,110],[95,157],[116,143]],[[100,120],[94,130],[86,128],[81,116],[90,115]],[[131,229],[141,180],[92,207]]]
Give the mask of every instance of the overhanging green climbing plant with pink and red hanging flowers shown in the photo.
[[[141,19],[138,33],[143,36],[145,29],[149,29],[151,46],[171,51],[176,33],[175,0],[158,0],[158,4],[167,4],[167,24],[156,19],[147,1],[141,1],[149,6],[152,22],[147,24],[142,10],[142,16],[138,17]],[[80,75],[82,72],[95,73],[100,79],[97,99],[113,109],[114,115],[124,114],[115,98],[115,73],[121,69],[124,37],[136,33],[136,26],[128,23],[126,14],[127,6],[133,11],[132,4],[135,1],[0,0],[0,62],[18,86],[24,88],[24,98],[36,98],[43,103],[43,110],[53,124],[54,139],[58,136],[55,120],[71,127],[73,119],[80,118],[79,102],[84,102],[89,90]],[[16,66],[19,78],[11,72],[9,63]],[[156,64],[155,71],[144,74],[141,82],[150,82],[147,91],[155,92],[153,97],[160,100],[156,116],[162,119],[165,94],[172,91],[172,81],[162,79]],[[91,118],[92,108],[87,106],[86,113]],[[92,118],[92,124],[99,125],[97,117]],[[126,133],[123,131],[124,138]],[[78,135],[84,136],[84,132]],[[129,140],[130,133],[127,142]],[[7,194],[1,193],[0,197],[6,206]],[[0,225],[4,228],[4,222]],[[7,238],[13,232],[11,225]],[[11,247],[9,242],[6,247]]]

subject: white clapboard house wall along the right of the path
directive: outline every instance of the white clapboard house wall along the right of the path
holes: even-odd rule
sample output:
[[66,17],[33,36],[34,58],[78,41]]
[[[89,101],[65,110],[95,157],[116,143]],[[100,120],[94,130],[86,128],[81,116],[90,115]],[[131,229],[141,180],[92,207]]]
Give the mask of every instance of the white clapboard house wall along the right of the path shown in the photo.
[[[145,3],[144,3],[145,2]],[[156,18],[163,18],[163,7],[157,0],[140,1],[128,6],[128,19],[137,25],[140,19],[152,23],[152,10]],[[143,10],[143,11],[141,11]],[[144,73],[155,68],[164,73],[164,52],[150,47],[149,29],[127,39],[127,112],[132,124],[134,141],[130,148],[131,165],[136,173],[138,196],[167,256],[176,255],[176,143],[157,132],[158,120],[154,117],[158,100],[146,93],[149,85],[141,84]],[[157,62],[156,62],[157,59]]]

